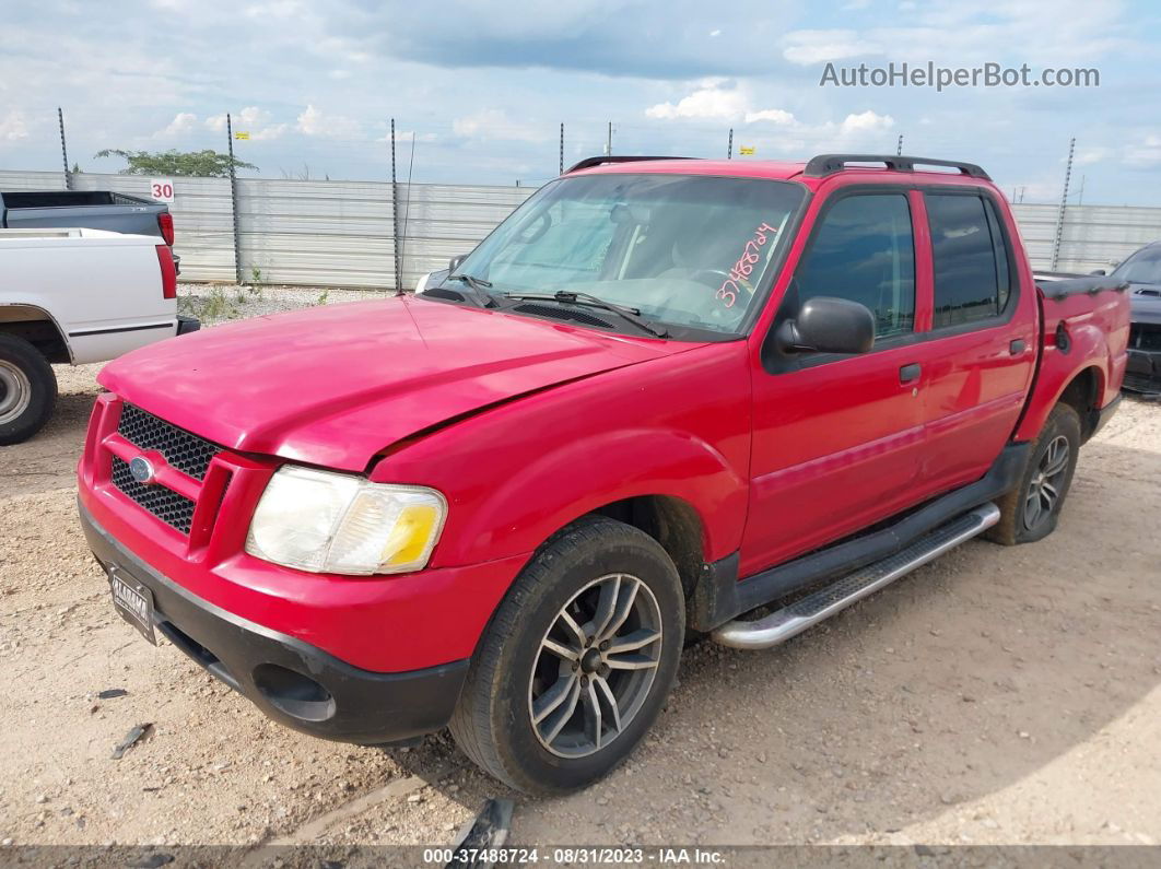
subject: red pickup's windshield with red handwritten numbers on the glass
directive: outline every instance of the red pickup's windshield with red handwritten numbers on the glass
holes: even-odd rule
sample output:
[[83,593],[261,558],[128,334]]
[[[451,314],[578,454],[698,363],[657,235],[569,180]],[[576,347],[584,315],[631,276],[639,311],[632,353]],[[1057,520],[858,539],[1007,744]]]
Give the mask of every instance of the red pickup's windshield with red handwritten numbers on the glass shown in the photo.
[[561,179],[456,271],[490,281],[495,294],[587,294],[655,323],[734,333],[802,195],[798,184],[762,179]]

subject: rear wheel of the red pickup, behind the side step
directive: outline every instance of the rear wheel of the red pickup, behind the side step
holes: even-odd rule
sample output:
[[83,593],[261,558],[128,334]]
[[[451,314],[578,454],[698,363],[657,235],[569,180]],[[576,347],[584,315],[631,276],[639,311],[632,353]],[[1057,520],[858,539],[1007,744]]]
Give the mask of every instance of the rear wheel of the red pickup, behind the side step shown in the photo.
[[1068,495],[1081,448],[1081,418],[1058,404],[1044,423],[1017,484],[997,501],[1000,521],[986,534],[1005,546],[1032,543],[1052,534]]

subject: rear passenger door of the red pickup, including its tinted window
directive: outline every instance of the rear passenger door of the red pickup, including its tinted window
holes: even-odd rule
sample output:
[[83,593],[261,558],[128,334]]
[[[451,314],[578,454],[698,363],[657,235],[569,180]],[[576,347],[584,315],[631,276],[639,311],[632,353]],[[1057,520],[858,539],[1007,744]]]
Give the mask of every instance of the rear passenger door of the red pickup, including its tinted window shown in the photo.
[[1036,360],[1034,289],[1021,288],[1007,211],[981,188],[928,188],[932,265],[924,348],[926,494],[978,479],[1000,455]]

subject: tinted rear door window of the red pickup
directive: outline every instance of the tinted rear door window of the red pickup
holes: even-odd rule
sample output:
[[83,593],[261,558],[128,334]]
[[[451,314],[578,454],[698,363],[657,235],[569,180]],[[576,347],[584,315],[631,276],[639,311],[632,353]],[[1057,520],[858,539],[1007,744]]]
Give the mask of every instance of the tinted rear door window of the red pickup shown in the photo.
[[935,327],[995,317],[1008,304],[1008,252],[990,203],[928,194],[935,256]]

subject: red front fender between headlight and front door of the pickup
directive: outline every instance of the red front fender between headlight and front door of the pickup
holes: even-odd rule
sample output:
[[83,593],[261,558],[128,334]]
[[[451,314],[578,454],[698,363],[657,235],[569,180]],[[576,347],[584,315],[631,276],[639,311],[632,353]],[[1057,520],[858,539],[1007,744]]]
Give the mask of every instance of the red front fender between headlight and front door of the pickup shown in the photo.
[[473,417],[370,476],[447,497],[433,567],[526,555],[579,516],[640,495],[690,505],[714,560],[741,543],[750,427],[745,342],[706,345]]

